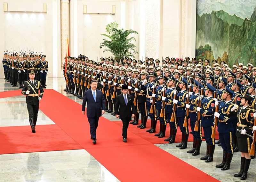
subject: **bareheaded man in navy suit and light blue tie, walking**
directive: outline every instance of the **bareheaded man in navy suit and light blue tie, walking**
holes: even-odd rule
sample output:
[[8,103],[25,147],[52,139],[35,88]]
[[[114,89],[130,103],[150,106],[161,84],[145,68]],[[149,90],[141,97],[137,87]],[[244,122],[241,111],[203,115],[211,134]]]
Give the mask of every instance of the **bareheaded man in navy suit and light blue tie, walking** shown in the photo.
[[91,89],[84,92],[84,99],[82,105],[82,113],[85,112],[85,105],[87,102],[87,118],[90,123],[90,133],[92,143],[96,143],[96,129],[98,127],[98,122],[101,114],[105,113],[105,99],[103,93],[100,90],[97,90],[98,82],[92,80]]

